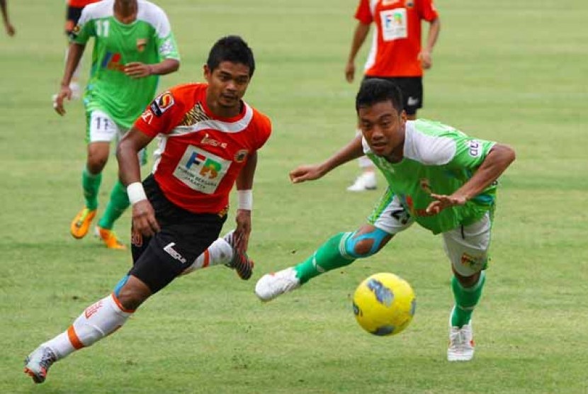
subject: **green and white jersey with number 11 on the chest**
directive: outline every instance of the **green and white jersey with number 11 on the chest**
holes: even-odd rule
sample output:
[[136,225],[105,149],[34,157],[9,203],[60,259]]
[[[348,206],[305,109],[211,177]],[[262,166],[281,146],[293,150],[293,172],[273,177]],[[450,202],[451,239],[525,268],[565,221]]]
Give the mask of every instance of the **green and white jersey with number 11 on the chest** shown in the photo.
[[114,17],[114,0],[90,4],[84,7],[72,33],[72,42],[82,45],[94,37],[90,79],[84,94],[86,111],[100,109],[125,128],[130,128],[152,101],[159,80],[156,75],[127,77],[125,64],[179,60],[164,11],[149,1],[137,3],[137,19],[129,24]]

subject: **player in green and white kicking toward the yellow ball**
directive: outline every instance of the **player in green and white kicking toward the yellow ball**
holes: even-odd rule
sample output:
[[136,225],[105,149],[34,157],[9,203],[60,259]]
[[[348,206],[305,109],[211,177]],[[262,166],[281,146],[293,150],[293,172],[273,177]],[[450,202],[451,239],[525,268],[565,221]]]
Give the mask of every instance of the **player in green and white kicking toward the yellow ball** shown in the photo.
[[335,235],[296,266],[264,275],[256,283],[256,295],[272,300],[326,271],[371,256],[417,222],[443,236],[453,269],[447,359],[469,361],[474,354],[471,315],[485,283],[496,181],[514,161],[514,150],[441,123],[407,120],[400,89],[383,79],[363,81],[356,111],[362,136],[321,164],[294,169],[290,179],[319,179],[365,153],[384,174],[388,190],[368,224]]

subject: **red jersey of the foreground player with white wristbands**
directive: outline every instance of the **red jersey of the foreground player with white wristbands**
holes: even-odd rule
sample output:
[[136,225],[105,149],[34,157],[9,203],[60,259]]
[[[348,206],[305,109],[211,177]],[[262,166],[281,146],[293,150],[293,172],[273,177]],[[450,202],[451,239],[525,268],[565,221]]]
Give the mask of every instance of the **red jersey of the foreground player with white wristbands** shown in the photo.
[[157,96],[135,128],[161,140],[154,178],[166,198],[193,213],[220,213],[250,154],[271,134],[264,114],[242,102],[233,118],[219,118],[206,106],[208,84],[175,86]]

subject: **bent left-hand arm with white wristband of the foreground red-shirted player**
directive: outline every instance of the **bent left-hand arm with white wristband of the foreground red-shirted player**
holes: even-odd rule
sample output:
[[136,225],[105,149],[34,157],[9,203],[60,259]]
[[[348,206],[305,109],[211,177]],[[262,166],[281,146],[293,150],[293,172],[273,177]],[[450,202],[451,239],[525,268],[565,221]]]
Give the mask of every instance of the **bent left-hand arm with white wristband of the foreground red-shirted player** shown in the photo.
[[159,231],[159,223],[155,212],[141,184],[141,169],[138,154],[153,138],[145,135],[137,128],[129,130],[116,148],[118,159],[118,176],[127,187],[129,201],[132,205],[132,230],[151,237]]

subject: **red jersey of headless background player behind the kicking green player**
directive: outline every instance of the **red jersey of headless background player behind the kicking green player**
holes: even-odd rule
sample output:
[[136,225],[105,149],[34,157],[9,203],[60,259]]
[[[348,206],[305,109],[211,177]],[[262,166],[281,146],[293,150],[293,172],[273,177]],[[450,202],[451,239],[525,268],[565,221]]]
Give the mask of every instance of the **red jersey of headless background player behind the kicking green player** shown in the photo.
[[355,18],[375,24],[369,77],[421,77],[421,21],[438,17],[433,0],[360,0]]

